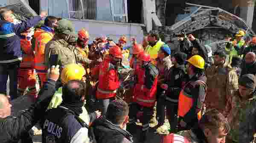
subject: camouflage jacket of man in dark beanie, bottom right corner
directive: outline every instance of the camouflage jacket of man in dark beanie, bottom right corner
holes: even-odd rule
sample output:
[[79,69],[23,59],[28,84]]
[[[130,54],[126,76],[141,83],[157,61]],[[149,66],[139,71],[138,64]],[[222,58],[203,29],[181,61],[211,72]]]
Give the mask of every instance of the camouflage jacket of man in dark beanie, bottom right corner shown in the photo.
[[250,143],[256,133],[256,92],[242,99],[239,91],[228,100],[224,115],[230,122],[228,139],[234,143]]

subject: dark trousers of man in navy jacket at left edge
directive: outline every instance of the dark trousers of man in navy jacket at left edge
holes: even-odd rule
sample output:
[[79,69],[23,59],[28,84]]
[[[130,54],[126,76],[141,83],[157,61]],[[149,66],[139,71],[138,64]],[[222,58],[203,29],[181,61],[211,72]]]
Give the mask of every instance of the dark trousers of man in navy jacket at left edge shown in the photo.
[[0,64],[0,93],[6,94],[6,84],[8,76],[10,79],[10,93],[11,100],[17,98],[17,84],[18,84],[18,69],[20,68],[20,62],[13,62],[7,64]]

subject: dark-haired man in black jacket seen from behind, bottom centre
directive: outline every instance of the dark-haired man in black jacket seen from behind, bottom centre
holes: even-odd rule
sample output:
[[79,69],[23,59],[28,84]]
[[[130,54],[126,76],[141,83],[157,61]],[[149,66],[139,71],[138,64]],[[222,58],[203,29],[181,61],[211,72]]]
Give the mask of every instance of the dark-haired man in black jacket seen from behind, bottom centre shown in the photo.
[[106,118],[96,119],[90,128],[96,143],[133,143],[132,135],[124,129],[128,122],[128,113],[129,106],[125,101],[111,101]]

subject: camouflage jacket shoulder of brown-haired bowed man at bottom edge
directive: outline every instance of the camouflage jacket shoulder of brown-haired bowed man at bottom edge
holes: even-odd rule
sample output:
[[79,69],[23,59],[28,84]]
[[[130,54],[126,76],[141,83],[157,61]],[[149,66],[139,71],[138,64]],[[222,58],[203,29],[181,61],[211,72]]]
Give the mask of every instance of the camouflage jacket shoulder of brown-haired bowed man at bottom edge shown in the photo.
[[191,129],[188,131],[180,131],[177,135],[185,137],[189,143],[208,143],[204,132],[201,129]]

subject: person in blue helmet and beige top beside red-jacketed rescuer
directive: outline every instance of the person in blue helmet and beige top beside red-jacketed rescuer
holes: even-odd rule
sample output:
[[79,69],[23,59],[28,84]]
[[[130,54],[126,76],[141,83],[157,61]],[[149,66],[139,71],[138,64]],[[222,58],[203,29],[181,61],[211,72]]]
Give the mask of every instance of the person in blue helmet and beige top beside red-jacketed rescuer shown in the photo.
[[158,117],[158,125],[162,126],[165,121],[165,99],[161,98],[161,94],[163,92],[160,85],[163,84],[164,80],[167,78],[168,71],[172,67],[172,61],[170,58],[171,50],[167,44],[161,46],[158,51],[157,57],[157,68],[159,70],[159,76],[157,77],[157,117]]

